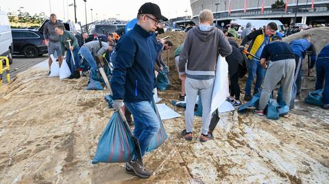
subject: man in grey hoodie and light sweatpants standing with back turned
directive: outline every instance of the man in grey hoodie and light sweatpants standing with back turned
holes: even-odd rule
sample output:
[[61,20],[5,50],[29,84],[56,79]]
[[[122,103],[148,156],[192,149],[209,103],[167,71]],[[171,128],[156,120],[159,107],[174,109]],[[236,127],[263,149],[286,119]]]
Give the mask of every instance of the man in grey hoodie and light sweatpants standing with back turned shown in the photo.
[[186,129],[182,131],[182,137],[188,141],[193,139],[193,116],[198,93],[201,96],[203,107],[202,131],[199,141],[209,140],[210,107],[217,58],[219,54],[226,57],[232,53],[232,47],[223,32],[212,26],[213,21],[214,16],[210,10],[200,12],[200,24],[187,32],[180,53],[179,72],[180,78],[185,79],[186,92]]

